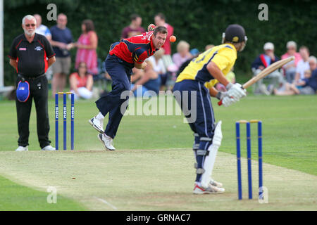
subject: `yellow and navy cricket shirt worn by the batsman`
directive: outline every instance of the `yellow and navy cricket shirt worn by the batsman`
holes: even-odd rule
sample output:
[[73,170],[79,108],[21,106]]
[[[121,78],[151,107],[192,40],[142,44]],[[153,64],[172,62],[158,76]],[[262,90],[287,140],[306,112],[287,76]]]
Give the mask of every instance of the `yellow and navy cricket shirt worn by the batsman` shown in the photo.
[[204,83],[207,88],[211,88],[218,83],[218,80],[207,70],[208,63],[213,61],[223,72],[223,75],[228,75],[228,72],[230,72],[233,65],[235,65],[236,59],[237,50],[232,44],[214,46],[199,54],[197,58],[194,58],[189,65],[182,70],[176,82],[181,82],[184,79],[194,79]]

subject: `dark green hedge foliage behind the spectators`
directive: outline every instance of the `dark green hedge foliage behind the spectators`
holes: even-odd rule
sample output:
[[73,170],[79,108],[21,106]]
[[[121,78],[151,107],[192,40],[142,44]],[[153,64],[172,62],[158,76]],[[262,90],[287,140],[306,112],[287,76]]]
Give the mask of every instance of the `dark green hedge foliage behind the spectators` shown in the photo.
[[[235,71],[240,75],[251,76],[250,65],[263,50],[266,41],[275,44],[275,53],[285,53],[287,41],[294,40],[299,46],[309,47],[316,55],[317,39],[316,1],[265,1],[268,5],[268,21],[258,19],[261,1],[239,0],[55,0],[58,13],[68,15],[68,27],[75,40],[80,36],[80,23],[87,18],[94,20],[99,36],[99,58],[106,57],[108,47],[118,41],[123,27],[130,23],[130,14],[138,13],[143,18],[143,27],[154,23],[154,15],[162,12],[167,22],[175,28],[178,41],[184,39],[191,48],[204,51],[206,44],[220,44],[225,27],[232,23],[244,26],[248,42],[246,49],[239,54]],[[56,23],[46,20],[46,0],[5,0],[4,1],[4,54],[8,54],[14,37],[22,33],[21,20],[26,14],[39,13],[43,24],[51,27]],[[177,42],[176,42],[177,43]],[[175,52],[176,44],[173,44]],[[73,61],[75,50],[72,50]],[[5,84],[13,84],[14,70],[5,61]],[[239,81],[239,77],[237,77]]]

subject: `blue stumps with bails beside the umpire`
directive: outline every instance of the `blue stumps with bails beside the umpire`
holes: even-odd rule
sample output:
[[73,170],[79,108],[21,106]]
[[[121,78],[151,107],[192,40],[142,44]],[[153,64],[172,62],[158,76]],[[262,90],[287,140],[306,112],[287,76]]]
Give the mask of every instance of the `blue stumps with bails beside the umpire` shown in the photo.
[[75,96],[72,92],[57,92],[55,94],[55,148],[58,150],[58,96],[63,95],[63,150],[67,143],[67,95],[70,94],[70,150],[74,150],[74,118]]

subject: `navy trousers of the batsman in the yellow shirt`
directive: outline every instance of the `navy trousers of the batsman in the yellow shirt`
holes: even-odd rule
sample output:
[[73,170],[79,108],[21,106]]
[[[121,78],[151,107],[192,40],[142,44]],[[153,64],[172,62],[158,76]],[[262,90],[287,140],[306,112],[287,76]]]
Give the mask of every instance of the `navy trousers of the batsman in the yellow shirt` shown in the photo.
[[[185,79],[175,83],[173,95],[187,117],[190,129],[194,132],[193,150],[197,169],[203,168],[215,129],[209,89],[201,82]],[[201,181],[201,174],[197,174],[196,181]]]

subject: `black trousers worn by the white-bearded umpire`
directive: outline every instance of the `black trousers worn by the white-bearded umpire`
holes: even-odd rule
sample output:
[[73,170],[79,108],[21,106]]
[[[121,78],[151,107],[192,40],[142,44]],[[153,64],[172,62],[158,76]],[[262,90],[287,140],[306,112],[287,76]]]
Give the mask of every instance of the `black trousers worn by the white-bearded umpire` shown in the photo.
[[[37,137],[39,139],[39,146],[44,148],[49,146],[49,112],[48,112],[48,86],[46,75],[42,75],[37,78],[24,77],[26,82],[30,84],[30,97],[25,103],[21,103],[17,99],[16,113],[18,117],[18,146],[29,145],[29,123],[32,108],[32,99],[35,102],[35,108],[37,112]],[[18,75],[16,80],[16,86],[18,82],[23,79],[21,75]]]

